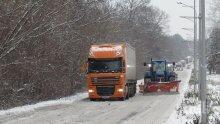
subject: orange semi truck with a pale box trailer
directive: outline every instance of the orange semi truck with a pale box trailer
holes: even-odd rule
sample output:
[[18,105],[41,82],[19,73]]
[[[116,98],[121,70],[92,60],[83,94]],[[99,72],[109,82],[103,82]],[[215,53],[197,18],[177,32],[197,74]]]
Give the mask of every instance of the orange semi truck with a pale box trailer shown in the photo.
[[91,45],[87,84],[91,101],[125,100],[136,93],[136,54],[127,43]]

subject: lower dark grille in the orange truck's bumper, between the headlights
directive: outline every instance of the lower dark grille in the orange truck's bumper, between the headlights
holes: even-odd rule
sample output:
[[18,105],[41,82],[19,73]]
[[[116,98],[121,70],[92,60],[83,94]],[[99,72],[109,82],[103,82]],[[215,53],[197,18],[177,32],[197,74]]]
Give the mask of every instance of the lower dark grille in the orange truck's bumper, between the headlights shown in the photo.
[[115,92],[114,86],[97,86],[97,94],[100,96],[111,96]]

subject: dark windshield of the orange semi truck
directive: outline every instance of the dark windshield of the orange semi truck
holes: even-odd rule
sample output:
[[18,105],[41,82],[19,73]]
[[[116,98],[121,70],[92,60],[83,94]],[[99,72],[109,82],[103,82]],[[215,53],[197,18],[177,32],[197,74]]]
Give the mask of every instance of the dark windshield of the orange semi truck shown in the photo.
[[122,70],[122,60],[95,60],[89,59],[88,72],[119,72]]

